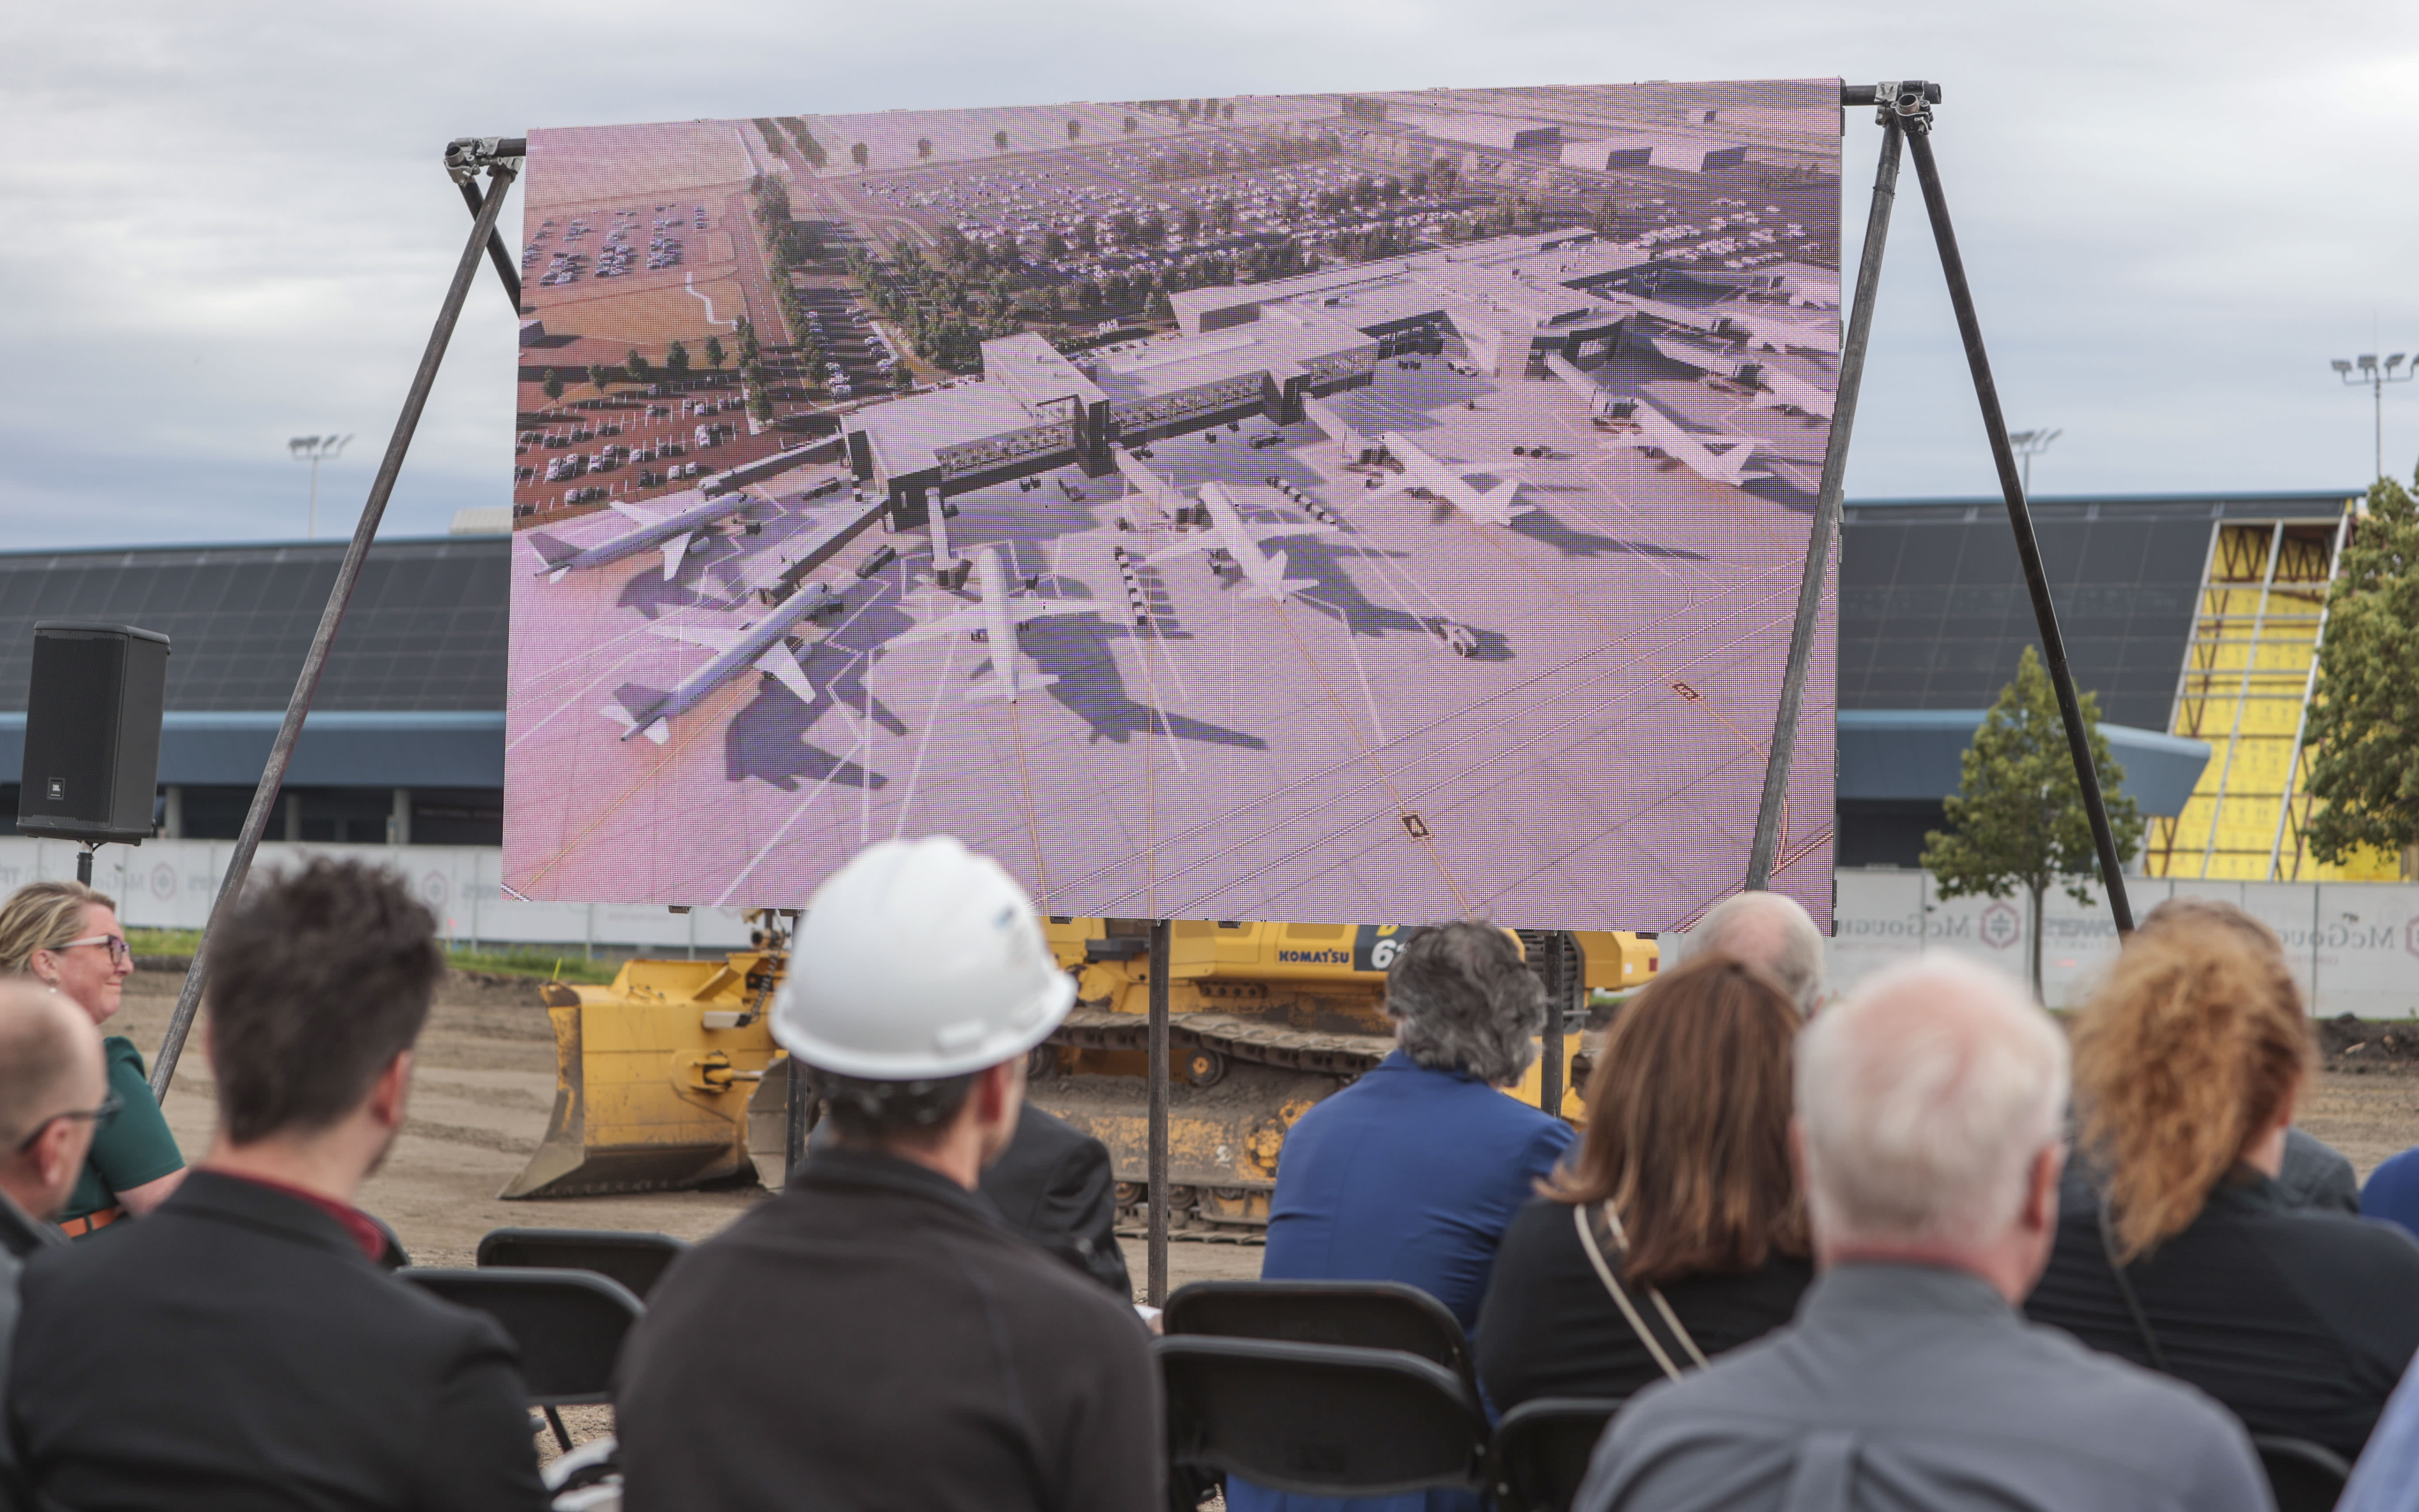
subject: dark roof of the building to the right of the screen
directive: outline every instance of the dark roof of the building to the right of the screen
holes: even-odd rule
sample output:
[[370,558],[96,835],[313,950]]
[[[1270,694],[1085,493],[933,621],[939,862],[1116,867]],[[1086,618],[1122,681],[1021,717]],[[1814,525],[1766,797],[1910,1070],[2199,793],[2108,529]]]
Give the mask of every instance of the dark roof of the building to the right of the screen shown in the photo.
[[[2165,731],[2221,520],[2334,520],[2339,494],[2032,503],[2076,685],[2100,719]],[[1838,706],[1986,709],[2039,644],[1998,498],[1853,503],[1841,520]]]

